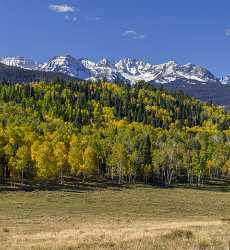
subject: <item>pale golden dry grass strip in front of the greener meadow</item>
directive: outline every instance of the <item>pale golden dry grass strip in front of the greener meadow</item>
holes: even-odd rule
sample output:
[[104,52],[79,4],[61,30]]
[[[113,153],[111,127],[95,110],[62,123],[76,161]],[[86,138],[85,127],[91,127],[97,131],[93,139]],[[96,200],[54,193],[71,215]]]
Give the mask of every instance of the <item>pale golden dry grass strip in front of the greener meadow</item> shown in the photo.
[[57,231],[49,226],[40,233],[4,232],[0,249],[228,250],[230,242],[230,225],[221,221],[86,223]]

